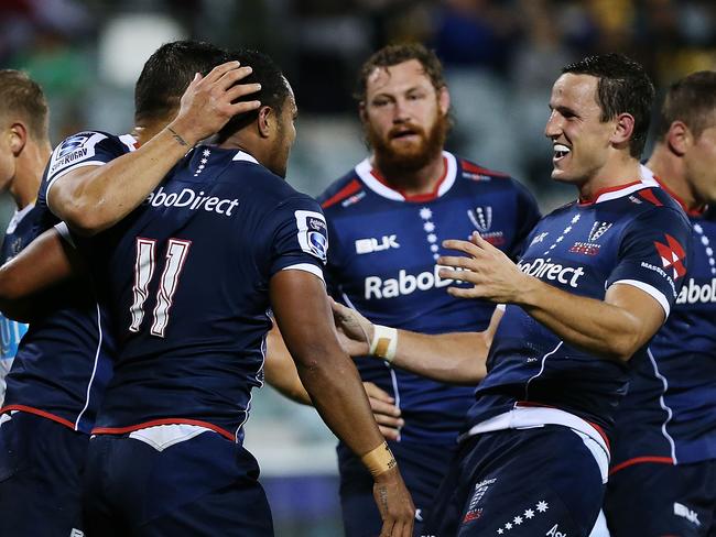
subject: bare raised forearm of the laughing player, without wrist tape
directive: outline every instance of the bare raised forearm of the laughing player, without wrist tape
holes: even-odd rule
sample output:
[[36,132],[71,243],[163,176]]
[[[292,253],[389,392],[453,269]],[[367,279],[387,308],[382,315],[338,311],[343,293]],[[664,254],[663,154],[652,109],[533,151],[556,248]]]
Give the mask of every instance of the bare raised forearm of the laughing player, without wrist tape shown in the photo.
[[514,303],[566,343],[609,360],[628,361],[644,342],[640,319],[632,313],[538,278],[530,278]]

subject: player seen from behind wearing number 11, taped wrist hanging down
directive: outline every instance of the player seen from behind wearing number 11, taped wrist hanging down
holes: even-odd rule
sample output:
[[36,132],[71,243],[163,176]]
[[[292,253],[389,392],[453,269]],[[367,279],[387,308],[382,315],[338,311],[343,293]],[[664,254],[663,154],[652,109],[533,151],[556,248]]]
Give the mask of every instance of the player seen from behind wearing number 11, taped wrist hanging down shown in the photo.
[[[271,306],[318,412],[373,475],[381,535],[410,535],[414,507],[330,324],[325,220],[283,180],[293,92],[267,56],[236,57],[261,83],[261,109],[231,119],[218,145],[189,152],[145,204],[82,246],[119,339],[89,448],[88,530],[271,534],[242,447]],[[51,172],[51,199],[63,183]]]

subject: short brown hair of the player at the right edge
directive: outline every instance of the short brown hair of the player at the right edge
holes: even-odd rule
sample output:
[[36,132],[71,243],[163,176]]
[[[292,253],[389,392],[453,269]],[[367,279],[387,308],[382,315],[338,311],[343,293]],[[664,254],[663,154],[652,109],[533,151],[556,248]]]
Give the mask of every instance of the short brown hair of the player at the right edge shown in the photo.
[[659,110],[659,140],[663,140],[671,124],[677,120],[683,121],[696,138],[716,124],[716,72],[692,73],[669,88]]

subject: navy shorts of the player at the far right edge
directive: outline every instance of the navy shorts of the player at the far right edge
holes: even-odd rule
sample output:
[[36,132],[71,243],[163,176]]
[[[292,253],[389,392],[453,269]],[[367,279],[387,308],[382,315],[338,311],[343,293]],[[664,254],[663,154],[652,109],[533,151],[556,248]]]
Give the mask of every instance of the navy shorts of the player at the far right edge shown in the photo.
[[716,537],[716,461],[641,462],[609,476],[611,537]]

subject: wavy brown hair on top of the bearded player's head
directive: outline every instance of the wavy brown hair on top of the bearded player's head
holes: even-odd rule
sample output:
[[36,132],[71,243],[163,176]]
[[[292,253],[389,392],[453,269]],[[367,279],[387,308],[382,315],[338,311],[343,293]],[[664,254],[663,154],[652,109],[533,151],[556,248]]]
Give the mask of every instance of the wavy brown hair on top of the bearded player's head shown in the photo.
[[411,59],[420,62],[420,65],[425,70],[425,75],[427,75],[435,89],[445,87],[443,64],[437,59],[435,53],[420,43],[402,43],[384,46],[366,61],[358,75],[358,84],[354,92],[356,100],[358,102],[366,100],[368,77],[376,68],[391,67]]

